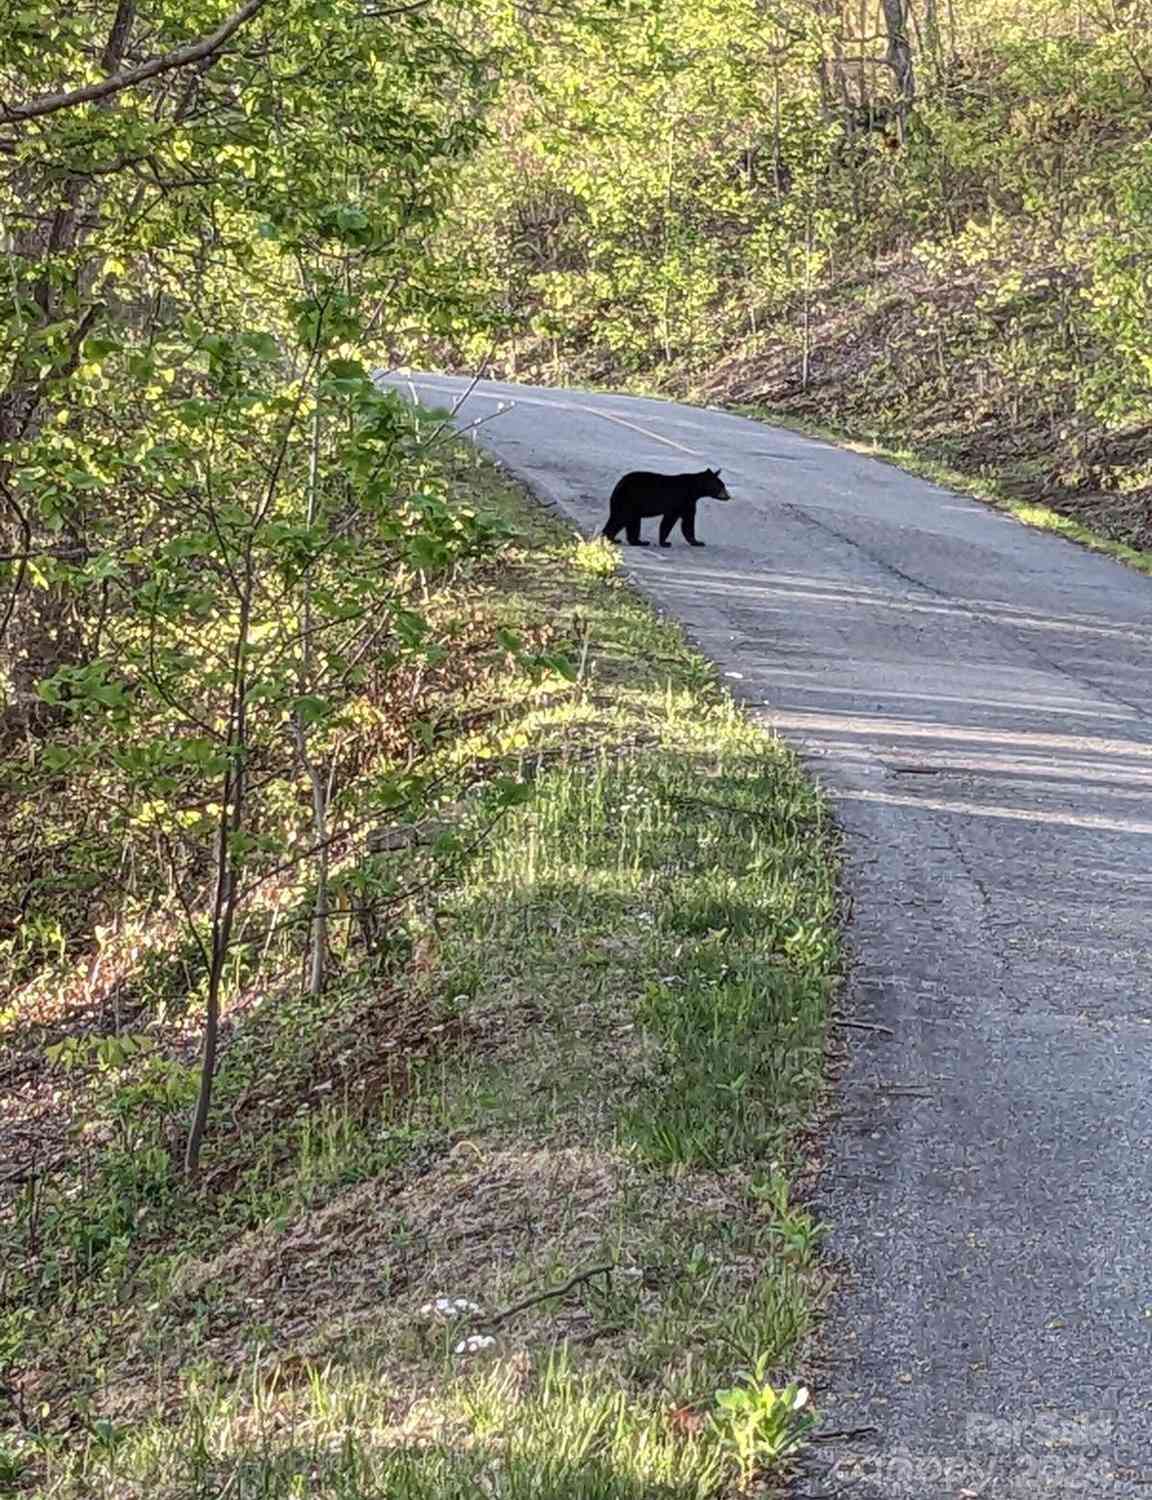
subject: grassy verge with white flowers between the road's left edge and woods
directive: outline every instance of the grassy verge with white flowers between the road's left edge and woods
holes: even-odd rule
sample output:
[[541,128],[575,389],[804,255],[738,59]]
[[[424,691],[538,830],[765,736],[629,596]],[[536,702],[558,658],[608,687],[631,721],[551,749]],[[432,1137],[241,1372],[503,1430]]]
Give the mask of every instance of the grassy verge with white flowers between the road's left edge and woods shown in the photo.
[[464,705],[450,753],[531,796],[483,838],[466,798],[423,831],[452,878],[387,970],[237,1018],[225,1107],[278,1080],[243,1170],[8,1314],[0,1490],[702,1500],[783,1473],[824,1281],[795,1180],[831,830],[610,549],[460,462],[522,536],[444,608],[579,664]]

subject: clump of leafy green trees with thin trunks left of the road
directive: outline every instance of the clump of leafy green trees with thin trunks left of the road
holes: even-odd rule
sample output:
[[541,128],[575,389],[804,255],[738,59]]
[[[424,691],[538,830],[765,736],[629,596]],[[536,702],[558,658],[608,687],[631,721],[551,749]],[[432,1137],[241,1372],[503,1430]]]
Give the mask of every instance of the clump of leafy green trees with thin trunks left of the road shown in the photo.
[[0,22],[0,734],[32,736],[30,798],[68,770],[166,850],[204,963],[189,1174],[243,902],[315,862],[320,988],[366,645],[434,650],[411,578],[483,537],[366,360],[398,321],[468,315],[424,244],[490,90],[424,6],[202,14]]

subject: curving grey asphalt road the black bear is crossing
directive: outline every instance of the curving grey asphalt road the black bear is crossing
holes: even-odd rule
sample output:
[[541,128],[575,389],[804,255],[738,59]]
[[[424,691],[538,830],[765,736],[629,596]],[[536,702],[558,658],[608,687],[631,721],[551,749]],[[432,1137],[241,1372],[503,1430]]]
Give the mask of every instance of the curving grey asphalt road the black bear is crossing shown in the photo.
[[708,550],[624,560],[844,831],[820,1407],[872,1431],[800,1492],[1150,1496],[1152,580],[720,411],[483,382],[480,418],[585,531],[626,470],[723,468]]

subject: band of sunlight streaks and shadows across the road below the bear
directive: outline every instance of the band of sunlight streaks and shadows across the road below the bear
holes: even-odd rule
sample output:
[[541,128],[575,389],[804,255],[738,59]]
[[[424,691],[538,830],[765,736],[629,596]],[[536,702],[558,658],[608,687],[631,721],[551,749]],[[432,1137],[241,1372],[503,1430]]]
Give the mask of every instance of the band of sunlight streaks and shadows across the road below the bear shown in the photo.
[[639,573],[704,616],[732,690],[843,802],[1152,834],[1152,586],[1125,620],[770,567]]

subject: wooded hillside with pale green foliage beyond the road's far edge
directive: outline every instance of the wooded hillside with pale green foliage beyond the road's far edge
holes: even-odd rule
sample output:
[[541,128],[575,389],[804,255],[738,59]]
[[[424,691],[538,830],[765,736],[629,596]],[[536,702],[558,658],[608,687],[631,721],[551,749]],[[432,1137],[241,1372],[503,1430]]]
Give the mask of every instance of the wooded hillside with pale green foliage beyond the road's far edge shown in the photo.
[[495,342],[405,352],[770,408],[1148,546],[1150,22],[674,0],[573,42],[508,90],[447,231]]

